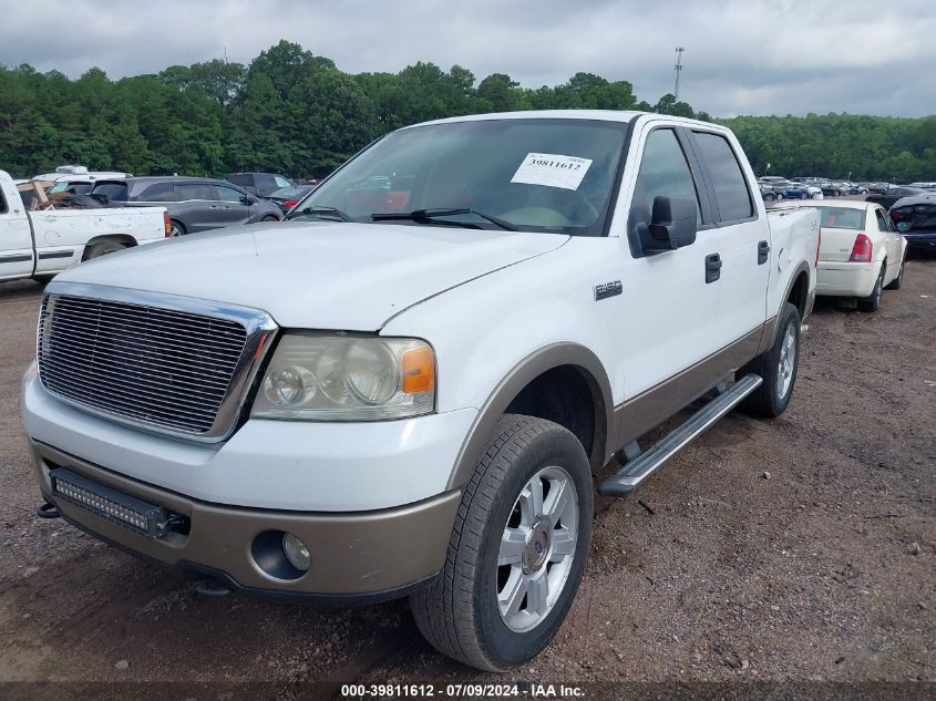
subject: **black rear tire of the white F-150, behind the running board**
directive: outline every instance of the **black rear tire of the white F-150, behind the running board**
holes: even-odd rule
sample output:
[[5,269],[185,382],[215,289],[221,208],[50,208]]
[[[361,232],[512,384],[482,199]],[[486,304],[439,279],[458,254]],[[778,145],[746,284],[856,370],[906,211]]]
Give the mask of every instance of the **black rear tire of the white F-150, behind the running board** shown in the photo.
[[[739,404],[739,409],[745,414],[772,419],[786,411],[790,398],[793,396],[793,388],[796,384],[796,371],[800,368],[800,311],[795,306],[786,302],[776,319],[776,336],[773,346],[741,368],[736,374],[736,379],[741,379],[748,374],[757,374],[763,378],[761,385]],[[789,348],[784,354],[788,331],[793,337],[792,368],[784,363],[789,375],[781,370],[781,360],[789,361]],[[789,377],[789,383],[781,382],[781,374]],[[785,386],[785,390],[781,390],[781,384]]]

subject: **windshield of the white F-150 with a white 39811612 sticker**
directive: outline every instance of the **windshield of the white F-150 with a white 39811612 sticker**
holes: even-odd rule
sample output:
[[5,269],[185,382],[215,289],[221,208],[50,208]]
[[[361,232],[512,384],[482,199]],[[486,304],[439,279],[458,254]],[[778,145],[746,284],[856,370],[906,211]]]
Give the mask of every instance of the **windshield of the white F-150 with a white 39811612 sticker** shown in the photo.
[[523,231],[600,236],[626,127],[517,118],[393,132],[320,185],[290,218],[330,210],[347,220],[373,221],[381,214],[469,209],[454,221],[498,228],[485,218],[493,217]]

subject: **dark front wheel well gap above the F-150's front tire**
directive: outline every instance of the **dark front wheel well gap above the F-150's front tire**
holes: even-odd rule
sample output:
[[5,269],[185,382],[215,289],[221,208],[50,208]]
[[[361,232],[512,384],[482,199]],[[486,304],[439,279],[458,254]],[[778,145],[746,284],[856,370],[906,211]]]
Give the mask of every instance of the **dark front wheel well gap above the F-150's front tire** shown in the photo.
[[605,405],[598,384],[583,369],[560,365],[547,370],[527,384],[504,413],[537,416],[565,426],[582,443],[593,471],[603,466]]

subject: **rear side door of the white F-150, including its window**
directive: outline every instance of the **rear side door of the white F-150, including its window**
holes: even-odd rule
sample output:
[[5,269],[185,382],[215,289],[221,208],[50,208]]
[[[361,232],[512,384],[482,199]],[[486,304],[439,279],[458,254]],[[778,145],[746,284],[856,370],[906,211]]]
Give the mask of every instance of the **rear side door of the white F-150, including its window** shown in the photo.
[[[743,358],[750,350],[753,357],[768,315],[771,260],[779,251],[771,250],[770,224],[754,204],[749,187],[753,174],[750,179],[745,176],[738,146],[724,134],[703,130],[692,132],[692,144],[711,195],[714,224],[714,228],[700,231],[699,240],[721,260],[718,346],[728,349],[741,343],[744,348],[736,348],[730,354]],[[770,310],[771,316],[775,311]]]

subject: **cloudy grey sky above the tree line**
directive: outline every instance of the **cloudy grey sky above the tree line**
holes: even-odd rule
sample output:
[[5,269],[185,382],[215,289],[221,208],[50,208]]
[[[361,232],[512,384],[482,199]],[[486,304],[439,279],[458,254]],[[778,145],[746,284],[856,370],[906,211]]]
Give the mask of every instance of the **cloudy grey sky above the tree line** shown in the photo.
[[[936,114],[934,0],[0,0],[0,64],[112,78],[249,62],[279,39],[349,72],[415,61],[481,79],[577,71],[672,92],[711,114]],[[2,95],[0,95],[2,100]]]

